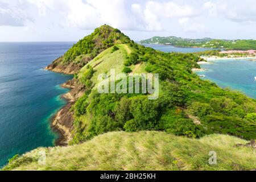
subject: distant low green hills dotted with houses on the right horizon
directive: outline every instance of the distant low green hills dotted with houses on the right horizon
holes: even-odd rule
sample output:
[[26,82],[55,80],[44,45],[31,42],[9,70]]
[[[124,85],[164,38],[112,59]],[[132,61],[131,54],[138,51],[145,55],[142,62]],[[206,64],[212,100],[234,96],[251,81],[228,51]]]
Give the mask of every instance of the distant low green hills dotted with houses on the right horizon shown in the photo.
[[164,44],[176,47],[205,47],[233,50],[256,49],[256,40],[224,40],[224,39],[183,39],[176,36],[160,37],[141,41],[142,44]]

